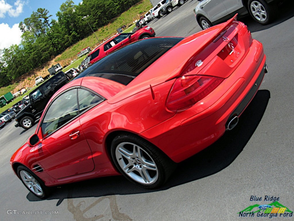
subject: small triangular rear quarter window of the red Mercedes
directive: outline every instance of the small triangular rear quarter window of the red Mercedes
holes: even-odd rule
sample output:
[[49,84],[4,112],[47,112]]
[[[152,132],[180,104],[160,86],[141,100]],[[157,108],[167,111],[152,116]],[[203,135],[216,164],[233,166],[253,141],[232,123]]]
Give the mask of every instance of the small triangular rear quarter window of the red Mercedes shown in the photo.
[[88,107],[100,103],[101,101],[103,101],[103,98],[97,96],[93,92],[80,88],[78,89],[78,107],[80,112],[83,112]]

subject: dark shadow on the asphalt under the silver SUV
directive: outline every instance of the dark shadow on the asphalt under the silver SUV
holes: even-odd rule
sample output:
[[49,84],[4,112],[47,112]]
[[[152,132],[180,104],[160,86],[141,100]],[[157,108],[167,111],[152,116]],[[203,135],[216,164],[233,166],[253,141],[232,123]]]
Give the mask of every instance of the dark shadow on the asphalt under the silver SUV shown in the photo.
[[[278,6],[278,12],[279,12],[278,19],[276,19],[274,22],[268,25],[261,25],[255,22],[251,16],[246,16],[240,19],[238,18],[238,20],[246,24],[251,33],[269,29],[273,26],[276,26],[282,22],[287,21],[288,19],[294,16],[294,1],[285,0],[280,6]],[[289,27],[289,28],[292,28],[292,27]]]

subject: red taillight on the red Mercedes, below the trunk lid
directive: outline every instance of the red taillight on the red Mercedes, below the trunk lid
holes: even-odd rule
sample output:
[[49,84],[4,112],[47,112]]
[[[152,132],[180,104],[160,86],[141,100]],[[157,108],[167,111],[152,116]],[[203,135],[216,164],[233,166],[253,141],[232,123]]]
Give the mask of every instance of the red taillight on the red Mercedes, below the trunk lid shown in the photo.
[[176,80],[166,101],[168,110],[185,110],[211,93],[224,79],[190,75]]

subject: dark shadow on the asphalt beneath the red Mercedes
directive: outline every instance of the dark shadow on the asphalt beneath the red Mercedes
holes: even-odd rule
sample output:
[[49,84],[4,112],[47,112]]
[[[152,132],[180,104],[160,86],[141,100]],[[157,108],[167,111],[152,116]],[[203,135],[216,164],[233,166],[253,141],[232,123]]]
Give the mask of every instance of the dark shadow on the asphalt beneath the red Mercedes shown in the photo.
[[[159,189],[143,189],[132,184],[123,176],[102,177],[51,187],[51,195],[46,200],[59,199],[56,205],[58,206],[64,199],[164,191],[216,174],[229,166],[242,152],[258,127],[269,99],[270,92],[268,90],[259,90],[240,116],[239,123],[233,130],[227,131],[218,141],[200,153],[179,163],[169,180]],[[30,192],[27,199],[29,201],[42,200]]]

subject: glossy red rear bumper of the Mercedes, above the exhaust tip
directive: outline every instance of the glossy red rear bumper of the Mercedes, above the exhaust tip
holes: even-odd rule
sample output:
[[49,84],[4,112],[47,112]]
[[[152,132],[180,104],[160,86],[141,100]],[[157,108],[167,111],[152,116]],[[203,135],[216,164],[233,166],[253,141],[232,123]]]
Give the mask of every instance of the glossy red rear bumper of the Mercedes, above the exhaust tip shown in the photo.
[[265,74],[265,60],[262,45],[254,40],[243,62],[217,89],[140,135],[175,162],[205,149],[225,133],[228,120],[240,116],[253,99]]

